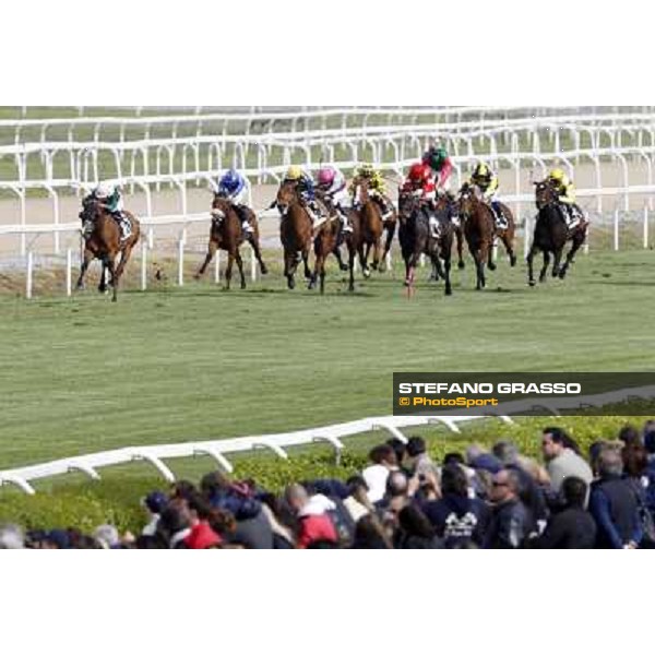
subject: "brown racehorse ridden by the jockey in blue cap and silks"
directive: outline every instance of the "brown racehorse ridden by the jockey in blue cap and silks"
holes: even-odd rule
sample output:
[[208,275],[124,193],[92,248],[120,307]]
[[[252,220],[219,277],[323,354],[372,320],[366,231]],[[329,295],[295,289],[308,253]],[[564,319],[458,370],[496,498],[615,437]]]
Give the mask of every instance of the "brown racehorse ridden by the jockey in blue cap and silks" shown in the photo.
[[246,288],[246,276],[243,275],[243,260],[241,259],[240,247],[245,241],[250,243],[254,257],[259,262],[262,275],[267,274],[266,264],[262,260],[262,253],[259,246],[259,225],[257,216],[252,210],[248,210],[248,222],[252,226],[252,234],[245,234],[241,227],[242,217],[239,215],[235,205],[217,194],[214,195],[214,202],[212,203],[212,227],[210,230],[210,246],[207,249],[207,255],[204,263],[194,275],[195,279],[200,279],[206,272],[209,265],[212,263],[216,252],[223,250],[227,252],[227,267],[225,270],[225,281],[227,290],[231,286],[233,267],[235,261],[239,267],[239,275],[241,277],[241,288]]

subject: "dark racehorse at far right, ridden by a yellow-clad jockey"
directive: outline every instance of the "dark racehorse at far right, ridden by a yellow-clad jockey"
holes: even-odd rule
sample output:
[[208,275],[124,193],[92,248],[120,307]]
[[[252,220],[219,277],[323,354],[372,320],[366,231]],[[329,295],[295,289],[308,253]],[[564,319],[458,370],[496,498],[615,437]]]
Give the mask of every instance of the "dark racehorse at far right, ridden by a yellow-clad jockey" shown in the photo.
[[[551,254],[555,257],[552,277],[564,279],[569,272],[569,266],[574,263],[577,251],[587,238],[587,228],[590,226],[588,221],[583,218],[576,227],[572,230],[569,229],[557,190],[548,182],[535,182],[535,187],[539,214],[535,225],[533,246],[527,255],[528,282],[529,286],[533,287],[537,284],[534,274],[535,255],[539,251],[544,253],[544,267],[539,275],[539,282],[546,282]],[[560,267],[564,248],[569,241],[572,241],[573,246],[567,255],[564,265]]]

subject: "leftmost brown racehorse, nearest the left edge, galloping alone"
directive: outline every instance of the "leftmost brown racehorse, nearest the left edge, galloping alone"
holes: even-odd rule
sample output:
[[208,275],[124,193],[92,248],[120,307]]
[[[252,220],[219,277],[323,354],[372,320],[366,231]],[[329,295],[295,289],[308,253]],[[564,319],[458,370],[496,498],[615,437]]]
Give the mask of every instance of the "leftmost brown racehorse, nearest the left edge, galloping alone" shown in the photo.
[[[123,241],[121,240],[121,229],[116,218],[95,198],[86,198],[82,206],[83,210],[80,213],[80,218],[84,235],[84,258],[80,278],[78,279],[78,289],[84,289],[86,271],[91,262],[98,259],[103,262],[103,273],[98,290],[103,294],[107,290],[105,272],[109,271],[112,288],[111,300],[116,302],[118,300],[120,278],[130,261],[132,250],[141,237],[141,224],[132,214],[124,212],[126,217],[130,221],[132,234]],[[119,255],[120,262],[117,263]]]

